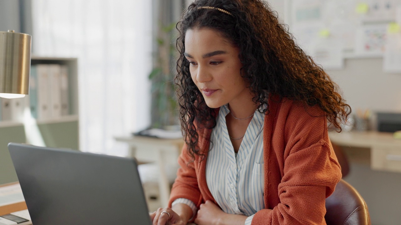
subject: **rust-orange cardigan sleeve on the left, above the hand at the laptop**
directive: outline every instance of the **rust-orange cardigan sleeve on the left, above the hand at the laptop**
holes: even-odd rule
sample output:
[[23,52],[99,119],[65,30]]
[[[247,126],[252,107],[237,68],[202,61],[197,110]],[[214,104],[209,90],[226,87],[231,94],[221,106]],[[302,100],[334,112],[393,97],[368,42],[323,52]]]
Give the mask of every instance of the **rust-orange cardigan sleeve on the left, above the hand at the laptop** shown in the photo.
[[190,155],[188,155],[186,144],[182,147],[178,164],[180,168],[177,171],[177,178],[171,189],[168,206],[171,207],[172,202],[179,198],[188,199],[195,203],[195,205],[199,205],[202,198],[201,191],[198,187],[194,162]]

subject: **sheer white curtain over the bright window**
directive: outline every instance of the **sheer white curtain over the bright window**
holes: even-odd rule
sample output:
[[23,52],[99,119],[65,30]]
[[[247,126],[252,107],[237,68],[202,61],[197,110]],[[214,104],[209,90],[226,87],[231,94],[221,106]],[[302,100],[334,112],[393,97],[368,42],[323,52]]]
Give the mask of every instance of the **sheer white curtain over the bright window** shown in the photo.
[[82,151],[124,156],[150,124],[152,1],[34,0],[33,55],[77,57]]

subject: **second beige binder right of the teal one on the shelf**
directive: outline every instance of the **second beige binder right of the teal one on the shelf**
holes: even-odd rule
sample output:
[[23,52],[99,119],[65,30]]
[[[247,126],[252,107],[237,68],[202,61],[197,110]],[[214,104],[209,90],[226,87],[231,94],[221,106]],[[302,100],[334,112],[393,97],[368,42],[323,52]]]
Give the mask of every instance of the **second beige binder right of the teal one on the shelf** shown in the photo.
[[61,67],[59,64],[49,64],[49,88],[51,118],[61,117]]

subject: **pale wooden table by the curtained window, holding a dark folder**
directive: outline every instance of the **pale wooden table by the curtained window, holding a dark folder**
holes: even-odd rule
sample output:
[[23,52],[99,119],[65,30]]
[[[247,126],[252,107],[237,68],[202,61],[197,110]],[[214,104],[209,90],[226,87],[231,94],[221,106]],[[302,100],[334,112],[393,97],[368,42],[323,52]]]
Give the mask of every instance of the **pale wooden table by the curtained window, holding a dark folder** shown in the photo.
[[[163,207],[168,205],[170,197],[170,184],[167,179],[166,173],[166,159],[171,154],[175,154],[175,161],[180,153],[184,141],[180,139],[158,139],[143,136],[130,136],[130,137],[115,137],[116,141],[128,143],[130,147],[130,157],[137,157],[138,151],[152,151],[152,161],[156,162],[159,166],[159,191],[160,203]],[[140,158],[138,160],[141,160]],[[146,159],[145,159],[146,161]]]

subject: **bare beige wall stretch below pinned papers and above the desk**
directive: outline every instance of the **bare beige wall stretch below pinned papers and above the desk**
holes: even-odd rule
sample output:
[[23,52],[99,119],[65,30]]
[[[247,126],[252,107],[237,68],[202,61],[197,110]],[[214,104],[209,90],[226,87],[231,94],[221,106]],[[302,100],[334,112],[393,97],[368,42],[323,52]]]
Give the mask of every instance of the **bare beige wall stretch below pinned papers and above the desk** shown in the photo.
[[383,58],[347,58],[343,70],[326,72],[354,110],[401,112],[401,73],[383,72]]

